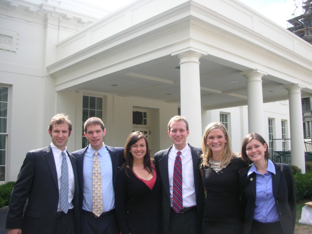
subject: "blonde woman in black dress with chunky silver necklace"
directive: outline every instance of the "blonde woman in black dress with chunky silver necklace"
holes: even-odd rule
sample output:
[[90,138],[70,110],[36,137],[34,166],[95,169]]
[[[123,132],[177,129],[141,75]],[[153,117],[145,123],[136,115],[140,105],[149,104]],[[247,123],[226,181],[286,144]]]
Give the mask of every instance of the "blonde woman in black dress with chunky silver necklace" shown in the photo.
[[241,234],[244,211],[239,193],[239,170],[247,165],[233,153],[227,129],[210,123],[202,136],[202,176],[207,192],[202,233]]

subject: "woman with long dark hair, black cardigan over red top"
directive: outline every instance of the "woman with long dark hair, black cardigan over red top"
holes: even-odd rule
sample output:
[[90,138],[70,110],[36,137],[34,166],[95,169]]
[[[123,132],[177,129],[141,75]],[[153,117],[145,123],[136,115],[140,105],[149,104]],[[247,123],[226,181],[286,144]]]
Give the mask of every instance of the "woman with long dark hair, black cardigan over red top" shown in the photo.
[[159,234],[162,186],[146,136],[135,131],[124,146],[125,163],[115,186],[115,207],[122,234]]

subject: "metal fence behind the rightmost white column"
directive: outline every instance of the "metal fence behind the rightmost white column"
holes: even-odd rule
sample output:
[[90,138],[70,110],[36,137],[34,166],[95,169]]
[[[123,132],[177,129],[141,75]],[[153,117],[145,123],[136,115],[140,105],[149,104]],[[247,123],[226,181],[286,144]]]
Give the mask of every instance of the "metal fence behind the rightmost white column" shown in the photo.
[[[312,162],[312,138],[305,138],[305,161]],[[290,139],[273,139],[270,159],[275,163],[291,164]]]

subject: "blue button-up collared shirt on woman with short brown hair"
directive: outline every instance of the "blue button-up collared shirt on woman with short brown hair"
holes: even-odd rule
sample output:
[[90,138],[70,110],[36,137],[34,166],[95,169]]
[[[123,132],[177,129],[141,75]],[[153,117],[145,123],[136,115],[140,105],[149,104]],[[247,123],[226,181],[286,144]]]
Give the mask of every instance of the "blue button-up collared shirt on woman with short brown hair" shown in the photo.
[[268,159],[268,168],[264,175],[259,173],[255,164],[253,164],[247,176],[253,172],[256,173],[256,207],[254,220],[262,223],[279,221],[280,218],[275,205],[272,187],[272,173],[276,174],[274,164]]

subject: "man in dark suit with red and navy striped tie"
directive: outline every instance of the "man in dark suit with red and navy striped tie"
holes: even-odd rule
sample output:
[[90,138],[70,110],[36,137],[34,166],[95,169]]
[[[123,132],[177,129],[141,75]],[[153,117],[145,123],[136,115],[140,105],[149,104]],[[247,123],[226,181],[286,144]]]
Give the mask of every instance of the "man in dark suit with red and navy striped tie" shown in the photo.
[[[182,116],[174,116],[168,123],[168,134],[173,142],[169,149],[161,150],[154,156],[156,168],[163,184],[163,232],[201,233],[204,206],[204,190],[199,171],[202,150],[186,142],[189,134],[188,122]],[[182,201],[176,209],[174,185],[175,163],[178,155],[182,164]],[[181,173],[180,173],[181,174]]]

